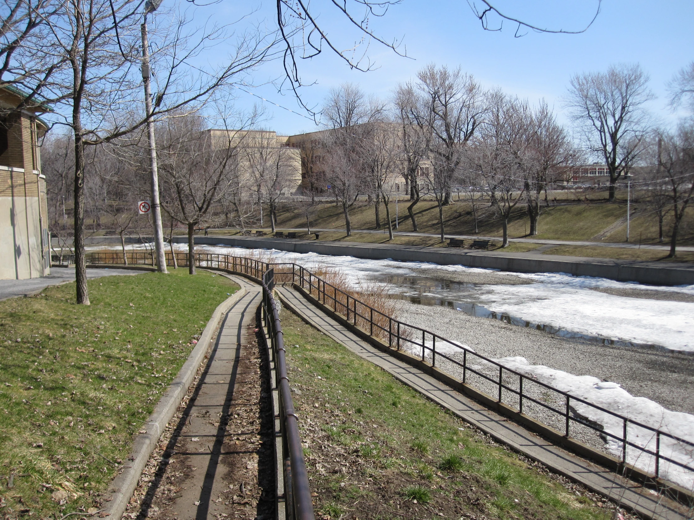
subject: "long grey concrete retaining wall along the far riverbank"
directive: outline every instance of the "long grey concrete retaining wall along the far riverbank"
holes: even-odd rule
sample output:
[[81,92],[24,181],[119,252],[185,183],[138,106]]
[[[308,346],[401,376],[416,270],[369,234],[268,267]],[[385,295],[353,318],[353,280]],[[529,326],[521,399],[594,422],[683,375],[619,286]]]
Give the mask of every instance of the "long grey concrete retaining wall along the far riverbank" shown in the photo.
[[[185,236],[174,237],[174,243],[187,243]],[[637,281],[652,285],[694,284],[694,265],[626,261],[614,259],[561,257],[538,253],[480,252],[424,248],[411,245],[335,243],[311,240],[272,239],[242,236],[196,236],[199,245],[228,245],[239,248],[276,249],[296,253],[314,252],[362,259],[433,262],[443,266],[458,265],[511,272],[566,272],[574,276],[601,277],[618,281]]]

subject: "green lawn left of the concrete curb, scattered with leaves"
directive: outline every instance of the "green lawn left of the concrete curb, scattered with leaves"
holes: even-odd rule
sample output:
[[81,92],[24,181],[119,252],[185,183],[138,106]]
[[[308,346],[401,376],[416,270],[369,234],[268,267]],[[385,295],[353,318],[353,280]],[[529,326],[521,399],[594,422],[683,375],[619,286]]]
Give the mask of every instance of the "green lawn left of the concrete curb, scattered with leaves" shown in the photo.
[[92,508],[235,290],[179,269],[90,280],[90,306],[74,303],[74,283],[0,302],[0,512]]

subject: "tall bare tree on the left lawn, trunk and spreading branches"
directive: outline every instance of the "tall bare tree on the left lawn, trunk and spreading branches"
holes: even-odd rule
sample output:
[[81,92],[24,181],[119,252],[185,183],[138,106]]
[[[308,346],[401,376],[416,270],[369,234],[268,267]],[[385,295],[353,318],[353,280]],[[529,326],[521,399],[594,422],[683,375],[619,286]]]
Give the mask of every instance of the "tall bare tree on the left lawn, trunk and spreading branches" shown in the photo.
[[[199,105],[220,87],[242,79],[269,58],[275,40],[248,32],[232,45],[229,56],[212,67],[197,58],[216,41],[230,36],[228,26],[189,30],[189,19],[172,10],[158,17],[150,34],[153,53],[140,70],[142,2],[139,0],[69,0],[50,20],[49,38],[37,60],[60,65],[44,92],[58,105],[56,118],[74,137],[74,244],[77,302],[89,304],[84,251],[85,147],[113,141],[139,130],[150,119]],[[166,18],[165,23],[161,18]],[[197,66],[193,67],[192,62]],[[142,103],[142,78],[156,72],[158,94],[148,114],[133,112]]]

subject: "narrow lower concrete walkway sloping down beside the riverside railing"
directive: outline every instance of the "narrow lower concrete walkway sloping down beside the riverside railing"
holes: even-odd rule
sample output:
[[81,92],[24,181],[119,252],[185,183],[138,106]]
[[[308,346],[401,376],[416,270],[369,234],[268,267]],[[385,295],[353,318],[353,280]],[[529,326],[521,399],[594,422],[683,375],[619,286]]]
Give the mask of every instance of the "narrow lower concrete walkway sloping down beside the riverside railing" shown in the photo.
[[533,460],[542,462],[552,471],[584,485],[593,492],[608,496],[611,500],[634,510],[643,517],[663,520],[691,518],[691,512],[679,503],[665,499],[631,480],[550,444],[538,435],[483,408],[420,370],[372,347],[346,327],[328,318],[294,289],[278,287],[277,293],[285,306],[316,329],[323,331],[355,354],[378,365],[428,399],[448,408],[452,413],[477,426],[499,442],[509,445]]

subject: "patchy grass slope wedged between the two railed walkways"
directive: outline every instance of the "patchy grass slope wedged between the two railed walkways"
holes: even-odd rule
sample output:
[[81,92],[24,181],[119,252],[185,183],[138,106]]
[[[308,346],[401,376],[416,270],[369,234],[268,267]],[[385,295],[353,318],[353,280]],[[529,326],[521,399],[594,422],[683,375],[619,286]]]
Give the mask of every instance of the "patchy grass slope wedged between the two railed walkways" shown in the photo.
[[282,326],[324,519],[611,517],[598,497],[567,489],[289,311]]

